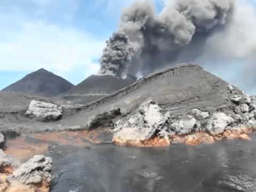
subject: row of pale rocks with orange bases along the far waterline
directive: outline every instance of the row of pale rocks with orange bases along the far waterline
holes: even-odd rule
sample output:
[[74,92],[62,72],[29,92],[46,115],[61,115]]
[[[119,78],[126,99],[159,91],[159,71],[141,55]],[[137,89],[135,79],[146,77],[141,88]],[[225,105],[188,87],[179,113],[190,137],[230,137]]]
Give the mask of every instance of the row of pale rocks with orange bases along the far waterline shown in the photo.
[[195,108],[175,116],[169,111],[163,113],[157,102],[146,101],[137,113],[116,123],[113,141],[121,145],[163,146],[213,143],[221,139],[250,140],[248,134],[256,128],[255,99],[231,85],[226,91],[233,94],[229,105],[215,108],[211,113]]

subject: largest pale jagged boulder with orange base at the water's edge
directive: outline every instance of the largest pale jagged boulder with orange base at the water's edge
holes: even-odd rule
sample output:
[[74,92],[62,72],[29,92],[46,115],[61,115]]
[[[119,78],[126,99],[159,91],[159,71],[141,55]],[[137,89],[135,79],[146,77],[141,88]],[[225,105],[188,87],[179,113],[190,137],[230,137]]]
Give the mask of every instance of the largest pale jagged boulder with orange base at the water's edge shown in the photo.
[[160,113],[158,104],[152,100],[146,101],[127,121],[116,122],[113,141],[139,143],[148,140],[157,130],[161,130],[165,121],[166,118]]

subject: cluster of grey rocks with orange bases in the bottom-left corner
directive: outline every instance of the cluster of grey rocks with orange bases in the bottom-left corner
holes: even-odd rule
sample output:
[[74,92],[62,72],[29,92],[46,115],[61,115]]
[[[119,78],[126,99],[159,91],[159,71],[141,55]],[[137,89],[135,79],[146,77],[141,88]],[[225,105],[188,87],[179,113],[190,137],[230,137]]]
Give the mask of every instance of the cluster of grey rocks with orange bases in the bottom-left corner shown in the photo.
[[[51,182],[52,159],[36,155],[15,170],[11,157],[0,151],[0,191],[48,192]],[[6,166],[9,169],[6,169]],[[8,170],[8,171],[6,171]]]

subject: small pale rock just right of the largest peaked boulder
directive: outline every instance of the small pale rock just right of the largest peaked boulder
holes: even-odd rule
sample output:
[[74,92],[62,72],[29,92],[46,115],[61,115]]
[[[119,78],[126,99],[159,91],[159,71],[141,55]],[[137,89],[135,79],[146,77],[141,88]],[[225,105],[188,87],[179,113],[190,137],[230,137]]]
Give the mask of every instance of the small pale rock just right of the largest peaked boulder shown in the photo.
[[176,134],[184,135],[193,132],[193,130],[197,127],[197,123],[194,117],[188,116],[187,118],[182,118],[175,121],[172,123],[171,127]]

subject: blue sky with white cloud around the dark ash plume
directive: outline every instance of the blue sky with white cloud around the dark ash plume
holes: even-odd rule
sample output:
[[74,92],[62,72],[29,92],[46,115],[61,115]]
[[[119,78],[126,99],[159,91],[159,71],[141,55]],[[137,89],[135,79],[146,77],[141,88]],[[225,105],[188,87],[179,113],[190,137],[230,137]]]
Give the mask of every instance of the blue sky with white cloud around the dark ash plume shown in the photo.
[[[73,84],[97,73],[105,41],[117,29],[122,9],[134,1],[1,0],[0,90],[39,68]],[[154,0],[158,10],[164,1]],[[228,81],[234,77],[208,69]]]

